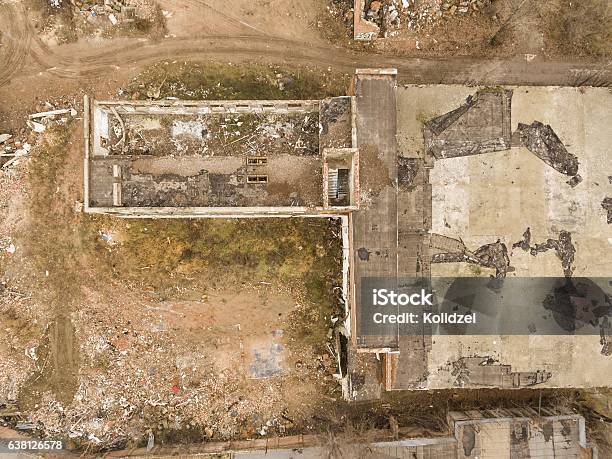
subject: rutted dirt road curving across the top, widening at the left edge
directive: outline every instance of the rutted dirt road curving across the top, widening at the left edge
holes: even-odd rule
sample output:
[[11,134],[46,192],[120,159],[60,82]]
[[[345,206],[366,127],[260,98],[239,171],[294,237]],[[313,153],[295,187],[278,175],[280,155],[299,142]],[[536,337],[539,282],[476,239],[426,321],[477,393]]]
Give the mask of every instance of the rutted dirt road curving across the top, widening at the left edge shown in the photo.
[[[206,4],[205,6],[208,6]],[[227,15],[226,15],[227,16]],[[0,98],[36,87],[45,81],[88,80],[132,73],[160,59],[214,59],[231,62],[283,62],[331,66],[351,72],[357,67],[395,67],[400,83],[612,85],[611,63],[560,62],[525,58],[512,60],[474,58],[420,59],[358,53],[332,47],[321,40],[279,36],[241,21],[225,18],[232,28],[222,34],[197,38],[172,37],[161,41],[115,39],[80,41],[50,48],[37,38],[27,13],[16,4],[0,4]],[[191,35],[193,36],[193,35]]]

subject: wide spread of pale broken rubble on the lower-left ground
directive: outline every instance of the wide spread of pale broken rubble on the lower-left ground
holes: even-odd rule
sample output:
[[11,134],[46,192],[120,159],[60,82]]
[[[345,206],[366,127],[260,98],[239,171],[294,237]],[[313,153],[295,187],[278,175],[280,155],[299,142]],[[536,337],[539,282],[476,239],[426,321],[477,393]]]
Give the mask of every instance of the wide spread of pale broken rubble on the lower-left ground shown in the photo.
[[74,396],[62,403],[45,392],[28,419],[46,437],[93,451],[150,436],[158,445],[285,434],[317,409],[313,394],[300,395],[297,385],[336,387],[335,362],[308,347],[291,348],[292,375],[250,379],[238,357],[243,342],[214,328],[196,331],[196,338],[192,316],[182,317],[173,302],[87,292],[86,306],[71,314],[80,346]]

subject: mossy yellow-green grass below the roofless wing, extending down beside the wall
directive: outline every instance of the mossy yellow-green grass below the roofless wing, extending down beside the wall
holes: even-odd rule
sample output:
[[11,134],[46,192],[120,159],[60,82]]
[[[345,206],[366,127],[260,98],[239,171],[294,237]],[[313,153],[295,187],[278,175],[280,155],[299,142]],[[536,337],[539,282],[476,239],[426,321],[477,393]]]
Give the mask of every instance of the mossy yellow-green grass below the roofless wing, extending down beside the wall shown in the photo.
[[[340,223],[332,219],[157,219],[121,221],[103,266],[161,300],[205,297],[210,288],[270,283],[300,298],[292,336],[326,342],[341,287]],[[101,260],[102,261],[102,260]]]

